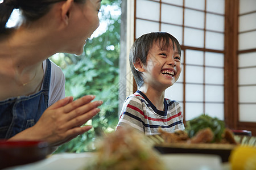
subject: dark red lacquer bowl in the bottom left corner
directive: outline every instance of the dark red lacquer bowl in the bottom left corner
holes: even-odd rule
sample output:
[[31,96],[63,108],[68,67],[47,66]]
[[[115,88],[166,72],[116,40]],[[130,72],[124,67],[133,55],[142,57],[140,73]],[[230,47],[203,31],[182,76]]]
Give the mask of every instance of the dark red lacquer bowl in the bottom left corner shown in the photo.
[[43,141],[0,140],[0,169],[46,158],[48,143]]

